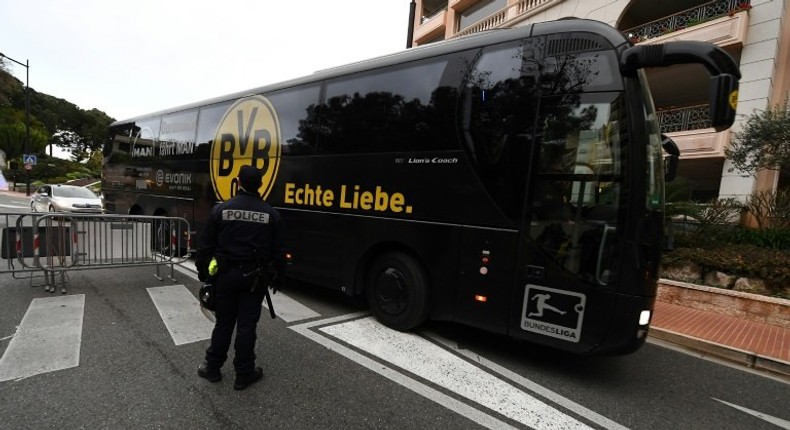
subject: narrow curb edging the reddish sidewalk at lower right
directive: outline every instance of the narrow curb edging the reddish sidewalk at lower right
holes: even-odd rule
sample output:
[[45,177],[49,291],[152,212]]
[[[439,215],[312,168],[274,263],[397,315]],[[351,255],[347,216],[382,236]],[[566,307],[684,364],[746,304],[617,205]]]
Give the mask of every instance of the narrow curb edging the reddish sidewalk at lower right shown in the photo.
[[712,355],[750,369],[768,372],[790,381],[790,363],[782,360],[657,327],[650,327],[648,336],[703,355]]

